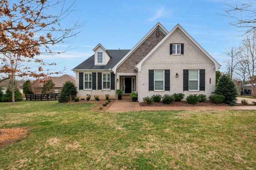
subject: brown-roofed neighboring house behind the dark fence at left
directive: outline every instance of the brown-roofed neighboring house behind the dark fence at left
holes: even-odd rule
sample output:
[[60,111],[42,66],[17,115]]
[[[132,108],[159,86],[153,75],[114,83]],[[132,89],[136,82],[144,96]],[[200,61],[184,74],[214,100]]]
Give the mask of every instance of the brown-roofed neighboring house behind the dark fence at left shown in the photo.
[[[44,78],[44,80],[49,80],[49,79],[50,78]],[[51,79],[55,84],[55,87],[54,87],[55,93],[60,93],[61,88],[66,81],[70,80],[74,84],[76,82],[76,79],[73,76],[70,76],[68,74],[64,74],[60,77],[51,77]],[[34,94],[41,94],[44,84],[34,81],[34,82],[31,82],[31,86]]]

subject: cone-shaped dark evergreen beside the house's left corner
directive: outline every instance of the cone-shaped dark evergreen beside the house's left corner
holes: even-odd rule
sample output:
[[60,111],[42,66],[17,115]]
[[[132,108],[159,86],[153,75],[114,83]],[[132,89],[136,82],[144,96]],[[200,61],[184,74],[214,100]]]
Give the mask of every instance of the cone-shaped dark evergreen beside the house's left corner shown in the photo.
[[58,102],[66,103],[71,101],[76,96],[76,94],[77,90],[75,84],[70,80],[66,81],[62,86]]

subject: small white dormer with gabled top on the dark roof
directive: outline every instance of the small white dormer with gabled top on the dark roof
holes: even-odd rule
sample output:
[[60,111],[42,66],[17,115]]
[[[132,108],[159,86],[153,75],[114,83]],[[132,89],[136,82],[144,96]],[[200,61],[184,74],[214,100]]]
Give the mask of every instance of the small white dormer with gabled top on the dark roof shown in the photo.
[[106,51],[106,48],[100,43],[93,49],[94,51],[94,65],[105,66],[110,60],[110,56]]

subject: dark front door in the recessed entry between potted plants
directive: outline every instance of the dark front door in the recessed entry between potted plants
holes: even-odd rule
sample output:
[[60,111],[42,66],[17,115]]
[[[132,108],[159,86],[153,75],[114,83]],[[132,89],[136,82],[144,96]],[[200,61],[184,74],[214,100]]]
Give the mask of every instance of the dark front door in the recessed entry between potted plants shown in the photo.
[[136,91],[136,77],[135,76],[120,76],[121,89],[124,94],[130,94]]

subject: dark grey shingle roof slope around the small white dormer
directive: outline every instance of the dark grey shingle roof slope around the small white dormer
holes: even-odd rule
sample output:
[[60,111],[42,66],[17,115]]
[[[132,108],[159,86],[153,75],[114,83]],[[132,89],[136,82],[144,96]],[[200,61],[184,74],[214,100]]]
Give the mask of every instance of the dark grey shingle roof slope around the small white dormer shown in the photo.
[[113,68],[130,50],[106,50],[110,60],[106,66],[94,66],[94,55],[76,66],[73,70],[107,70]]

